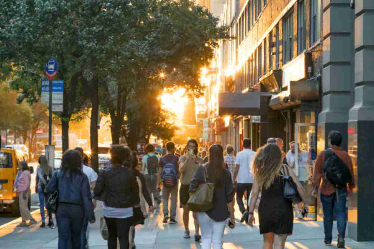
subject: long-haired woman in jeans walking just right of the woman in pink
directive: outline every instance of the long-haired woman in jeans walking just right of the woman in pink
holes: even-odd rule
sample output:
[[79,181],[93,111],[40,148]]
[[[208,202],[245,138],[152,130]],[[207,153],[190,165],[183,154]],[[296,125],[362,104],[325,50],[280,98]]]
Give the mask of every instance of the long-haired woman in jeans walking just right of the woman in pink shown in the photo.
[[[45,193],[45,187],[49,183],[53,175],[53,169],[48,165],[47,157],[42,155],[38,159],[39,167],[36,169],[36,193],[39,196],[39,207],[40,207],[40,216],[42,217],[42,224],[40,227],[46,227],[45,223],[45,202],[48,199],[48,196]],[[48,214],[48,226],[54,227],[52,220],[52,212],[47,210]]]

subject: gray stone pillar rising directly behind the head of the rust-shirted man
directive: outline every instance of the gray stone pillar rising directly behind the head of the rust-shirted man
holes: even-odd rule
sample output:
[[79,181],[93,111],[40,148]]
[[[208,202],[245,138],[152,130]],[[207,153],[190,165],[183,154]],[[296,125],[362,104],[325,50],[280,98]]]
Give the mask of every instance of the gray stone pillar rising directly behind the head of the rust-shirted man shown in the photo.
[[318,118],[318,150],[328,147],[328,133],[340,131],[347,149],[348,112],[353,105],[354,11],[350,0],[323,0],[322,111]]

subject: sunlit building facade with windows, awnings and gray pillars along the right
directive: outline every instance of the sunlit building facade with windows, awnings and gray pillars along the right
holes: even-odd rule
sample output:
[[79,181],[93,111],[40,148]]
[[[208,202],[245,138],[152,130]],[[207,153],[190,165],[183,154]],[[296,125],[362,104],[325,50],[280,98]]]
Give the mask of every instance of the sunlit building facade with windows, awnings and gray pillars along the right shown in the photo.
[[297,141],[312,175],[329,131],[340,131],[358,178],[347,229],[355,240],[374,240],[374,203],[364,199],[374,193],[373,10],[371,0],[227,0],[221,24],[236,39],[221,43],[205,77],[211,142],[238,152],[245,137],[253,150],[279,137],[288,152]]

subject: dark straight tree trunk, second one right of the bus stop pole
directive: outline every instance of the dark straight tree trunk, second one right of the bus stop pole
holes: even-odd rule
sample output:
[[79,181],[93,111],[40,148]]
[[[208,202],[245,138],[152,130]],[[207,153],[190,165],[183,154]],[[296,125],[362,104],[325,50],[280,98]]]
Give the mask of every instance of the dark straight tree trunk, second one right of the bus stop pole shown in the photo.
[[91,165],[92,169],[99,172],[99,155],[98,155],[98,116],[99,116],[99,82],[96,77],[92,81],[92,91],[91,91],[91,124],[90,124],[90,140],[91,140]]

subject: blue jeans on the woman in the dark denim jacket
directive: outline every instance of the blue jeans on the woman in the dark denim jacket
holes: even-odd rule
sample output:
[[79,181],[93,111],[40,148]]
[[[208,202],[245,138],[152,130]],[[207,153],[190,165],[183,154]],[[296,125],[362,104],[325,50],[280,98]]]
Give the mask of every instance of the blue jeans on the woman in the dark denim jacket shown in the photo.
[[58,249],[67,249],[71,238],[73,248],[80,249],[80,237],[84,221],[83,206],[58,203],[56,214]]

